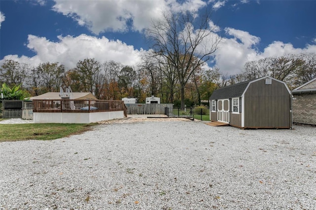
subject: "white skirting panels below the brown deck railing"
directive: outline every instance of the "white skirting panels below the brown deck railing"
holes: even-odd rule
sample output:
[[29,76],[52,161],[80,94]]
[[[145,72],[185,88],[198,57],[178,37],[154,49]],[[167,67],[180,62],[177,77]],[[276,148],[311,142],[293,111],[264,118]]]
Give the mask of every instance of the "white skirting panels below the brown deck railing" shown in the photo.
[[124,117],[124,111],[90,113],[34,112],[34,123],[94,123]]

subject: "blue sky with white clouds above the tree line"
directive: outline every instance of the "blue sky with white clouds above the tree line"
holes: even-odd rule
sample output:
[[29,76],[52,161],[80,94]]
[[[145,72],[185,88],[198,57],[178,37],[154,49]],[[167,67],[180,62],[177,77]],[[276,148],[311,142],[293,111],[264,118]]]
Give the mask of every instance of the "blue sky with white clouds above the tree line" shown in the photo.
[[221,37],[204,67],[227,75],[247,61],[316,53],[316,0],[0,0],[0,64],[79,60],[135,66],[150,49],[145,29],[161,12],[212,10]]

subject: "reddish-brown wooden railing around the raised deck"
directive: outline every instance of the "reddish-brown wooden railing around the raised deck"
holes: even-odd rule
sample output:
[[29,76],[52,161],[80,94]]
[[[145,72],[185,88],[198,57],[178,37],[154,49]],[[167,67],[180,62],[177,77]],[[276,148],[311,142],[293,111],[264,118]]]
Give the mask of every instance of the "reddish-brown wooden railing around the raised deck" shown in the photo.
[[33,100],[33,112],[103,112],[124,111],[123,101],[113,100]]

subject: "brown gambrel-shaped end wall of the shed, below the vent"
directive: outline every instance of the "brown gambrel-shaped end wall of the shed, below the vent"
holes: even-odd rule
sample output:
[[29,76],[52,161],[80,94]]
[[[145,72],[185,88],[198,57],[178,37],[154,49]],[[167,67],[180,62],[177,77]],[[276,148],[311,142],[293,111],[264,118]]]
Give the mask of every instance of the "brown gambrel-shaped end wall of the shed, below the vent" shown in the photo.
[[244,95],[246,128],[290,128],[290,94],[283,83],[259,80]]

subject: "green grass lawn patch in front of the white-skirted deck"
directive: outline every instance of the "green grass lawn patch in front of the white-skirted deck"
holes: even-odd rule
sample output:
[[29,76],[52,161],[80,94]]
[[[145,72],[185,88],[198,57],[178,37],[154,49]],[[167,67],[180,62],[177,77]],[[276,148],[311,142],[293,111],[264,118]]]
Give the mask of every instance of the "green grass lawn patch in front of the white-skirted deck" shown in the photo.
[[91,124],[0,124],[0,142],[17,140],[55,140],[92,129]]

